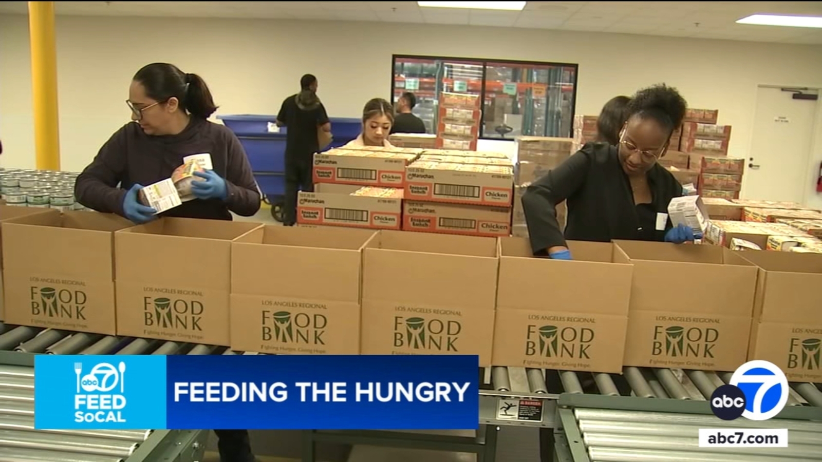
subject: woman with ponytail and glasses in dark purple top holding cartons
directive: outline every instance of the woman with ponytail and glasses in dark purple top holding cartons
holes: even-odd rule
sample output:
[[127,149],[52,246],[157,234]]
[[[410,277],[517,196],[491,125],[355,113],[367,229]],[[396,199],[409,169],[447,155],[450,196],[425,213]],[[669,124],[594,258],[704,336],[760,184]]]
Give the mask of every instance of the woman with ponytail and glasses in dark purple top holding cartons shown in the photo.
[[[155,218],[141,204],[142,185],[170,178],[187,155],[209,153],[213,170],[195,173],[196,200],[161,215],[200,219],[251,216],[260,192],[237,136],[207,119],[217,107],[205,81],[172,64],[155,62],[139,71],[128,91],[132,122],[106,141],[77,177],[77,201],[90,209],[122,215],[140,224]],[[118,186],[119,185],[119,186]],[[246,430],[215,430],[222,462],[253,462]]]

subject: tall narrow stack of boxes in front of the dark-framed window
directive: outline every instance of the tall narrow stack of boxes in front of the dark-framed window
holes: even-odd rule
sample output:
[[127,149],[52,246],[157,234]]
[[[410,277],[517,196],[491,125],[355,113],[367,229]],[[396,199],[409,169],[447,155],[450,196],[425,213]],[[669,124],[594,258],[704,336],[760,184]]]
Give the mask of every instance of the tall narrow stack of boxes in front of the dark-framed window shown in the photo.
[[482,123],[479,95],[442,93],[436,147],[450,150],[476,150]]

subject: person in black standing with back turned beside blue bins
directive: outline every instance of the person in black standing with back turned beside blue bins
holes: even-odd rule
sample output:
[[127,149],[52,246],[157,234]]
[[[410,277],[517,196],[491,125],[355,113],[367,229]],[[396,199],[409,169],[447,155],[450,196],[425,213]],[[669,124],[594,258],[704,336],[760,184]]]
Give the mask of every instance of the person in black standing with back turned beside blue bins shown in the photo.
[[285,133],[285,205],[283,224],[297,223],[297,192],[313,192],[314,153],[320,150],[317,130],[331,132],[326,107],[316,95],[316,77],[300,79],[300,92],[284,99],[277,113],[277,126]]

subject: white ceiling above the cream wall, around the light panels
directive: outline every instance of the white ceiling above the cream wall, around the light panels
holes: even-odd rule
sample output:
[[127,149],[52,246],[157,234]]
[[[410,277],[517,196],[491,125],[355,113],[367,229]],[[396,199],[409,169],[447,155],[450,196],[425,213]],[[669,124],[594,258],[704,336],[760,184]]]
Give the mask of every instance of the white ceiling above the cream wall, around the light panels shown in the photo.
[[[55,2],[58,15],[384,21],[822,44],[822,29],[741,25],[754,13],[822,16],[822,2],[528,2],[522,12],[421,8],[417,2]],[[0,2],[0,14],[27,12]]]

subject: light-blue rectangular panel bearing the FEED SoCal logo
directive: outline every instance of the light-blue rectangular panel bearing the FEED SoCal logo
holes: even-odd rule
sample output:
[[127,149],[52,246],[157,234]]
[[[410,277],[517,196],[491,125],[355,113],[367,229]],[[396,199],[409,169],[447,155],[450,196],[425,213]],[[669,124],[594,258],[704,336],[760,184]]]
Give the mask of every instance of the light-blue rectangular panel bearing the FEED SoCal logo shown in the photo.
[[165,426],[165,358],[35,357],[35,427],[142,429]]

